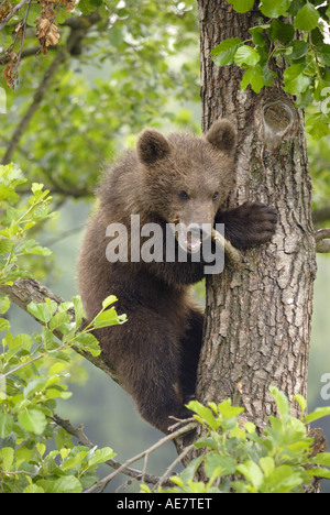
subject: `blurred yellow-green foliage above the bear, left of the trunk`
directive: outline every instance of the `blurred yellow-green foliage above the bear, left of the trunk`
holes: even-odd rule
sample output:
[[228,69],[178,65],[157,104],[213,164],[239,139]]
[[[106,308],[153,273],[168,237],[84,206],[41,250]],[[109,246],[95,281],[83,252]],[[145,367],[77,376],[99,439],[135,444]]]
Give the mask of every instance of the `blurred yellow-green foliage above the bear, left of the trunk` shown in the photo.
[[[86,20],[96,3],[98,21],[78,47],[66,52],[75,24]],[[194,127],[186,109],[187,102],[199,100],[198,29],[193,6],[194,0],[84,0],[67,18],[61,4],[55,20],[61,40],[47,55],[40,56],[35,55],[34,17],[41,6],[33,3],[20,83],[14,91],[4,79],[0,84],[0,94],[7,97],[7,116],[0,114],[2,154],[8,135],[21,125],[58,52],[65,53],[65,62],[38,94],[42,103],[20,135],[13,156],[33,180],[45,184],[53,194],[91,196],[100,167],[111,162],[120,146],[132,144],[131,134],[145,125]],[[13,52],[19,53],[21,42],[12,26],[24,20],[26,8],[25,3],[1,31],[4,62],[9,46],[14,45]],[[85,23],[88,26],[90,22]],[[180,103],[173,107],[176,98]]]

